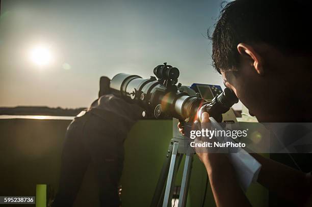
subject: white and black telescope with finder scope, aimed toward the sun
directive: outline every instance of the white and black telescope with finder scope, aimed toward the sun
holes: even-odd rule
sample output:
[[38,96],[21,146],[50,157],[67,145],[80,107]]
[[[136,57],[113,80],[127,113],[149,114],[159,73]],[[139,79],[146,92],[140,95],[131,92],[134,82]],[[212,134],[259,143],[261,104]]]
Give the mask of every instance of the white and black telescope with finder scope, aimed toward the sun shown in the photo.
[[201,114],[208,112],[218,122],[222,122],[222,113],[238,102],[235,93],[229,88],[214,97],[209,103],[199,93],[195,96],[185,92],[177,83],[179,70],[164,63],[153,70],[154,76],[144,79],[138,75],[119,73],[110,83],[111,92],[129,103],[140,105],[146,118],[171,118],[180,121],[201,121]]

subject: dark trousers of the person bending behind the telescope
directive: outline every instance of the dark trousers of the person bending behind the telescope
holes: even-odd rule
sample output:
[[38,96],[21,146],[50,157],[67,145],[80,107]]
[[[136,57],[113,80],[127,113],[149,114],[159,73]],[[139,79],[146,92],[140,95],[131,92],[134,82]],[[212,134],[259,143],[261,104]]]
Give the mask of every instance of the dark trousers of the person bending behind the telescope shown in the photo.
[[92,113],[76,117],[67,128],[59,192],[52,206],[73,205],[90,162],[97,173],[100,206],[119,206],[124,137]]

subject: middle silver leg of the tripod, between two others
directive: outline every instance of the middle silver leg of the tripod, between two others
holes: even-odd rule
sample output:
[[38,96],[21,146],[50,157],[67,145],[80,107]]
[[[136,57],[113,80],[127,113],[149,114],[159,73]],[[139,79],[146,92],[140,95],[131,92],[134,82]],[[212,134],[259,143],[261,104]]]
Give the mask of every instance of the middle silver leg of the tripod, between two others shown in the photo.
[[172,187],[174,186],[175,181],[175,174],[178,168],[179,161],[177,161],[178,158],[178,142],[173,143],[173,150],[172,150],[172,156],[170,161],[170,167],[168,172],[168,179],[167,179],[167,185],[165,190],[165,196],[164,196],[164,202],[163,207],[170,207],[171,206],[171,199],[172,199]]

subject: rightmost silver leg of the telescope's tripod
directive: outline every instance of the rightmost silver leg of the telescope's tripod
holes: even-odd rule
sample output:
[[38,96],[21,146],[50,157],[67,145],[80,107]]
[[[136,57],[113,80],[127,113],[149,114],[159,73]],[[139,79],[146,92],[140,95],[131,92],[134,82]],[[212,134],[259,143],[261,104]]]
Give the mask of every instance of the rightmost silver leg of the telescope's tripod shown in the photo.
[[185,158],[184,169],[183,169],[183,177],[182,177],[182,182],[181,182],[181,190],[180,190],[178,207],[186,206],[190,178],[191,178],[192,162],[193,162],[193,154],[187,154]]

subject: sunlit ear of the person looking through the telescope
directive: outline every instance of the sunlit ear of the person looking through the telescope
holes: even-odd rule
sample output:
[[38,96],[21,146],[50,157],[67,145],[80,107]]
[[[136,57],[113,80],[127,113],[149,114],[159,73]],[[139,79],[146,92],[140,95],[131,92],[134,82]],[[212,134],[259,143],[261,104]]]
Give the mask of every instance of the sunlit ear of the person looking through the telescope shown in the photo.
[[253,68],[259,75],[264,75],[263,59],[252,46],[240,43],[237,45],[237,50],[242,56],[250,58]]

